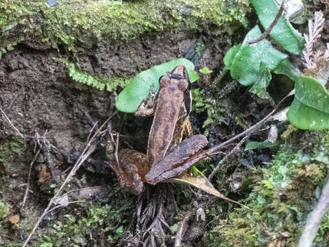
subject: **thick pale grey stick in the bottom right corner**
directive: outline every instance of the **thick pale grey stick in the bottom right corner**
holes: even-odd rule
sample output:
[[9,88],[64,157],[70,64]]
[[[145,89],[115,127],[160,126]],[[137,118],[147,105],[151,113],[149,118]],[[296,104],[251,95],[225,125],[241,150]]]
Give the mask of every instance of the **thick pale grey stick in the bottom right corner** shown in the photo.
[[306,222],[302,236],[300,237],[300,242],[298,242],[297,247],[310,247],[313,246],[313,240],[315,235],[317,235],[317,229],[321,224],[322,217],[329,209],[329,180],[327,181],[324,190],[322,191],[321,197],[315,209],[313,209],[310,217]]

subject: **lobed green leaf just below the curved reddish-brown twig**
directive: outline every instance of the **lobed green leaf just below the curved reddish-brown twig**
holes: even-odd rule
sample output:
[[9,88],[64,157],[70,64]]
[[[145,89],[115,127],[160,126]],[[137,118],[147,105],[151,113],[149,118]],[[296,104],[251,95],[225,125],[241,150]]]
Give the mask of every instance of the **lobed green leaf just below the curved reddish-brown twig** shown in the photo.
[[280,62],[288,57],[286,54],[274,49],[266,39],[254,45],[249,45],[248,41],[258,38],[260,34],[257,25],[250,30],[232,62],[232,78],[239,80],[245,86],[263,80],[265,72],[260,73],[260,63],[263,63],[268,71],[273,71]]

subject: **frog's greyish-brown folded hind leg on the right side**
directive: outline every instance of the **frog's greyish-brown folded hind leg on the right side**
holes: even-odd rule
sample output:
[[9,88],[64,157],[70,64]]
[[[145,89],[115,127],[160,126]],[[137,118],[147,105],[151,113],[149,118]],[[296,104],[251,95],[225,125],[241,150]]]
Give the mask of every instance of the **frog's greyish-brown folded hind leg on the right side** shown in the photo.
[[156,185],[184,173],[191,165],[199,161],[197,158],[199,151],[207,144],[208,141],[202,134],[185,139],[151,167],[145,176],[146,182]]

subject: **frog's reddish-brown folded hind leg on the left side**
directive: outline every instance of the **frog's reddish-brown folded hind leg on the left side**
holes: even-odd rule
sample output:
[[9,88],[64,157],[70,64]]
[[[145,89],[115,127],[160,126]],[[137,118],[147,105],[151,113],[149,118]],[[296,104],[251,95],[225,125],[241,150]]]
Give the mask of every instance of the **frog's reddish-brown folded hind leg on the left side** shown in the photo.
[[146,154],[132,149],[123,149],[118,154],[118,163],[114,167],[121,188],[139,195],[143,192],[145,174],[149,171]]

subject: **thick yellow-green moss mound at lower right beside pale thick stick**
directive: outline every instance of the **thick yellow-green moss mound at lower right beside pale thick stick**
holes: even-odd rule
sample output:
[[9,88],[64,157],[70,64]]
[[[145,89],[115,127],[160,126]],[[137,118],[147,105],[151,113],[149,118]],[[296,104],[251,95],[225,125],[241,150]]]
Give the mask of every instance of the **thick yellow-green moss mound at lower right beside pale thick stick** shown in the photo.
[[[295,132],[261,170],[262,178],[245,200],[250,210],[236,209],[228,219],[219,220],[210,231],[208,246],[276,246],[280,242],[296,246],[329,165],[329,132],[300,133]],[[328,241],[328,225],[325,218],[318,242]]]

